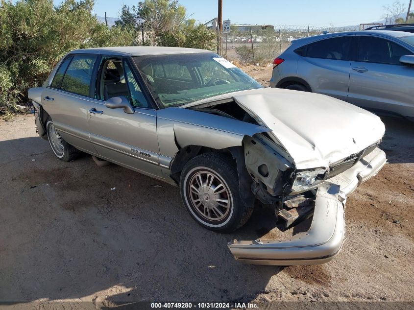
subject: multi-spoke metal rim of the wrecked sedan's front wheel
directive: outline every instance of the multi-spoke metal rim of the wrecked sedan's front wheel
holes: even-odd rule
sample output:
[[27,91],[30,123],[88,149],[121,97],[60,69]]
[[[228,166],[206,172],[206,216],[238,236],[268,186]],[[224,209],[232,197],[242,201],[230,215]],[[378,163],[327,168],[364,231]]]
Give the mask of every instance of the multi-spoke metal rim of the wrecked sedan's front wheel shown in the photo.
[[205,170],[196,172],[190,179],[189,192],[194,209],[203,218],[220,221],[228,215],[231,196],[219,175]]

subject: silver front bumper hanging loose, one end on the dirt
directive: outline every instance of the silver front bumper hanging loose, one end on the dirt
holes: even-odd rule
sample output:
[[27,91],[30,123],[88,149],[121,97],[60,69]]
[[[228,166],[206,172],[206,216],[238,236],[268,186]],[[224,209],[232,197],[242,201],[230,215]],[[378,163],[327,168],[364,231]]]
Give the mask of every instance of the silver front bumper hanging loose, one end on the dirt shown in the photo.
[[375,148],[356,165],[321,185],[307,232],[289,240],[234,240],[228,244],[231,253],[236,260],[262,265],[311,265],[331,261],[343,242],[346,197],[376,175],[386,162],[385,153]]

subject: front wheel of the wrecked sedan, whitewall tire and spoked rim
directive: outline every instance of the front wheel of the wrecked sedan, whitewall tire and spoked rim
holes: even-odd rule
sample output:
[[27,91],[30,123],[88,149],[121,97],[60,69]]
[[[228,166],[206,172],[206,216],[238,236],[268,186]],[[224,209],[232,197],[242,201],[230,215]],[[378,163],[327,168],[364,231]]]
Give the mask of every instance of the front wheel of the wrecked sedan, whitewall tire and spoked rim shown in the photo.
[[234,161],[221,153],[205,153],[190,160],[181,172],[183,203],[201,226],[232,232],[244,225],[253,212],[240,197]]

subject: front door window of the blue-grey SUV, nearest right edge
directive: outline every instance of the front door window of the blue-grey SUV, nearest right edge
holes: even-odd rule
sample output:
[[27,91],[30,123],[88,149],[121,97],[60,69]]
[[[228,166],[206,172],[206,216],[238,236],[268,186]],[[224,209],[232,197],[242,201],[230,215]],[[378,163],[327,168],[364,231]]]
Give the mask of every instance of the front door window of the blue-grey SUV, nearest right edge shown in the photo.
[[358,61],[401,65],[400,57],[412,54],[408,49],[386,39],[365,36],[359,38]]

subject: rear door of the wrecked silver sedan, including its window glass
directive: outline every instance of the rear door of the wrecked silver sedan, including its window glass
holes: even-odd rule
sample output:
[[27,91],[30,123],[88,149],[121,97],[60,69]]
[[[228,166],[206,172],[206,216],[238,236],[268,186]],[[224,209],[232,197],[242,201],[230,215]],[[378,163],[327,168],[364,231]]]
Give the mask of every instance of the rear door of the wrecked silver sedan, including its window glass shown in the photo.
[[94,94],[97,56],[73,54],[64,59],[50,85],[42,92],[42,105],[62,138],[80,150],[94,152],[89,139],[87,107]]

